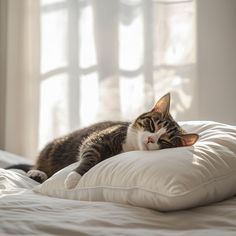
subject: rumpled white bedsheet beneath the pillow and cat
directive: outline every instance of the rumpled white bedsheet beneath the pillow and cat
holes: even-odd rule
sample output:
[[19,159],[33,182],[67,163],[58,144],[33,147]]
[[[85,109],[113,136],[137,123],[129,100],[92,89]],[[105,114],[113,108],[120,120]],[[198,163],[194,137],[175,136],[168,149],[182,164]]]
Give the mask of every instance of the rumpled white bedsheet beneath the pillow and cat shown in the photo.
[[[1,167],[25,162],[0,151]],[[0,169],[0,235],[236,235],[236,197],[163,213],[111,202],[36,194],[24,173]]]

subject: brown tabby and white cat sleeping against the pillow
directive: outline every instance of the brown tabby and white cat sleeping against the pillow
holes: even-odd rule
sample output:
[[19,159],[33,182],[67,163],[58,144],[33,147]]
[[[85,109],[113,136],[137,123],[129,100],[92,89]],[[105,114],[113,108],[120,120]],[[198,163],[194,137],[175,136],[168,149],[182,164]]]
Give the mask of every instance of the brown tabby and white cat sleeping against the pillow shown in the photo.
[[80,160],[64,182],[67,189],[72,189],[93,166],[119,153],[193,145],[198,134],[187,134],[172,118],[169,109],[168,93],[151,111],[141,114],[133,122],[100,122],[57,138],[40,152],[27,175],[42,183],[55,172]]

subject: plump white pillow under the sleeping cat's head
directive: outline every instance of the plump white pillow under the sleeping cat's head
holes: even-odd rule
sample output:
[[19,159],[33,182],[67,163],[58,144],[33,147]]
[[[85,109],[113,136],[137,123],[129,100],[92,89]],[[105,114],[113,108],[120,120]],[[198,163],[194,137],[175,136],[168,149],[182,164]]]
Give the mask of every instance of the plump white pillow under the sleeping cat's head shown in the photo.
[[36,192],[52,197],[110,201],[160,211],[196,207],[236,194],[236,127],[183,122],[200,140],[192,147],[134,151],[109,158],[88,171],[75,189],[64,188],[77,163],[59,171]]

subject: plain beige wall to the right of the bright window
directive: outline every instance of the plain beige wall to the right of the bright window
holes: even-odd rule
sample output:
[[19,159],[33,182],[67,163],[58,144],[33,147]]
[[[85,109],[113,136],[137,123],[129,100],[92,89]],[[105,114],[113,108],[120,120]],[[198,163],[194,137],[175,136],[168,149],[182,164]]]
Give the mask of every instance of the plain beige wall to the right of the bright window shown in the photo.
[[236,125],[236,0],[197,0],[200,119]]

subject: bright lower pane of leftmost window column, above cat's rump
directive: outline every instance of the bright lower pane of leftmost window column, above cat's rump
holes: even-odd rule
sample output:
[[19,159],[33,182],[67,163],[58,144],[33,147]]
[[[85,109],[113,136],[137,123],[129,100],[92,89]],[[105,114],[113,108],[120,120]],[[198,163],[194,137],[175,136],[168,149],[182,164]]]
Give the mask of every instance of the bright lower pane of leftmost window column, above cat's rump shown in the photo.
[[68,132],[68,81],[66,74],[52,76],[40,86],[39,148]]

